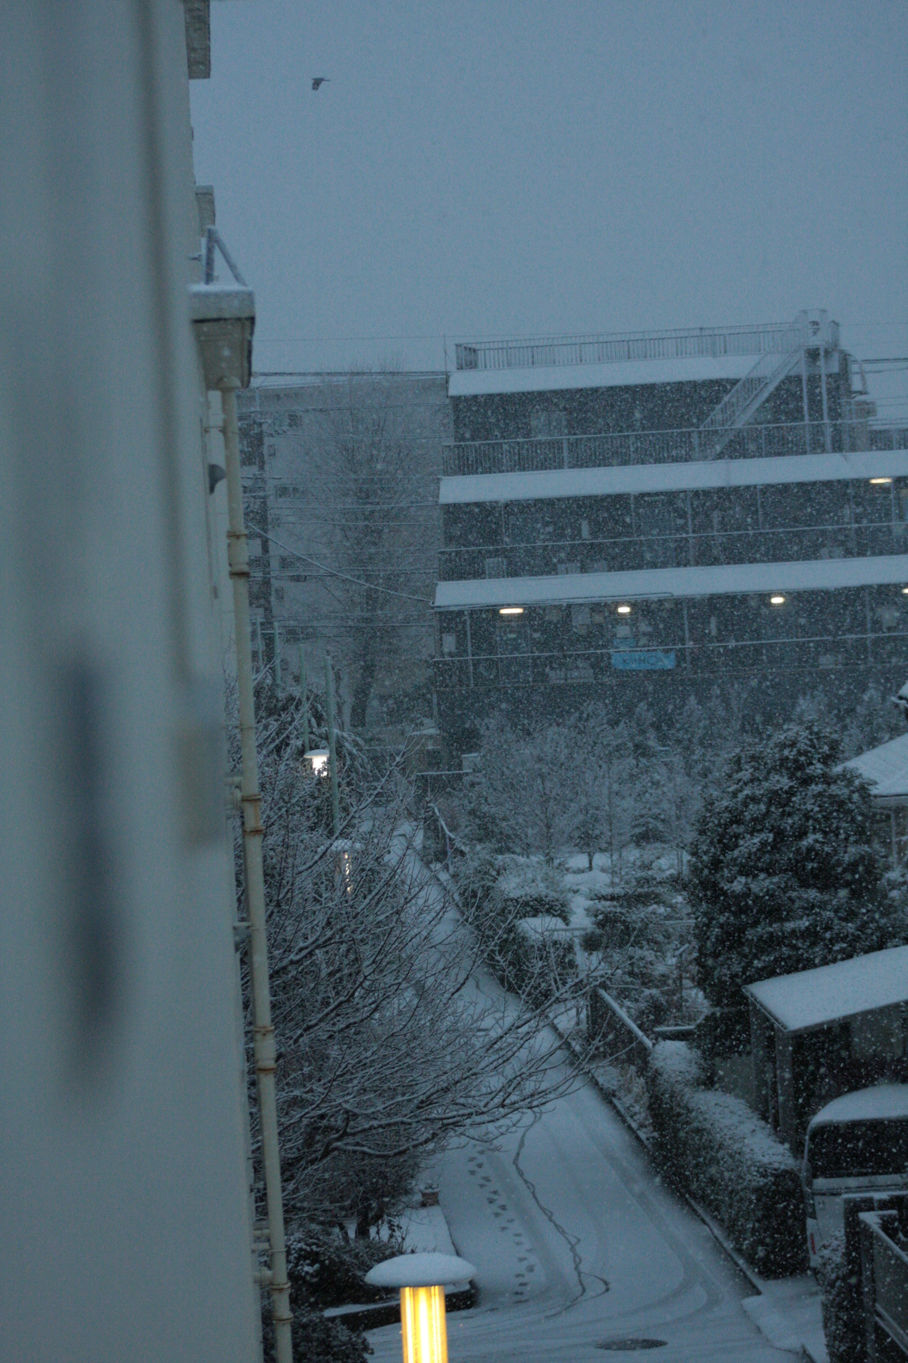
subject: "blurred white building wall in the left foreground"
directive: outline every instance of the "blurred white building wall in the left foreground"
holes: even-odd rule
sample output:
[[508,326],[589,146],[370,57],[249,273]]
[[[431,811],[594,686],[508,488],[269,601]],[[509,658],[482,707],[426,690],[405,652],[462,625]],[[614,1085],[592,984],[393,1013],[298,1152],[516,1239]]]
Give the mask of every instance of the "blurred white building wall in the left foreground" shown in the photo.
[[182,7],[0,42],[1,1352],[249,1363]]

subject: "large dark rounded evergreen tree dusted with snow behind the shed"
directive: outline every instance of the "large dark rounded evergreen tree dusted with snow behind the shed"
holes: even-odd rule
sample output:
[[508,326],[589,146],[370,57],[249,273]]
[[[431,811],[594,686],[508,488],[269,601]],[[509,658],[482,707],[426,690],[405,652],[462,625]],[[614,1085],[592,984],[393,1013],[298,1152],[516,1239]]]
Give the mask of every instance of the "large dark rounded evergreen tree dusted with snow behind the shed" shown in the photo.
[[898,939],[873,851],[870,791],[836,770],[839,741],[790,725],[731,761],[692,848],[700,983],[719,1006],[741,987],[877,951]]

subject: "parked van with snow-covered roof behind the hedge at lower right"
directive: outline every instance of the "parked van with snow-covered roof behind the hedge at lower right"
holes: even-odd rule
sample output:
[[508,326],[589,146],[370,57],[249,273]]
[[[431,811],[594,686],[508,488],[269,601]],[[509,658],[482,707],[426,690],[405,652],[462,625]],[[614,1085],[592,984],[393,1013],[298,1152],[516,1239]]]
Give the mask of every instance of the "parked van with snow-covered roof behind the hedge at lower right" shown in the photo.
[[815,1268],[820,1246],[844,1234],[845,1194],[908,1187],[908,1084],[845,1093],[821,1108],[807,1127],[803,1184]]

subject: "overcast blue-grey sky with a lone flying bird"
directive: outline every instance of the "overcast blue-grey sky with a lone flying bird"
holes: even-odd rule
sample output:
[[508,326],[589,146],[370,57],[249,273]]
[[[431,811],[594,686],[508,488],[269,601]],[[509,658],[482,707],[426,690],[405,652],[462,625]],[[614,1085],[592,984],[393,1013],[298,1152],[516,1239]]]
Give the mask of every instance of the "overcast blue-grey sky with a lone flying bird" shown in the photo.
[[905,0],[230,0],[211,25],[196,174],[259,369],[802,307],[908,354]]

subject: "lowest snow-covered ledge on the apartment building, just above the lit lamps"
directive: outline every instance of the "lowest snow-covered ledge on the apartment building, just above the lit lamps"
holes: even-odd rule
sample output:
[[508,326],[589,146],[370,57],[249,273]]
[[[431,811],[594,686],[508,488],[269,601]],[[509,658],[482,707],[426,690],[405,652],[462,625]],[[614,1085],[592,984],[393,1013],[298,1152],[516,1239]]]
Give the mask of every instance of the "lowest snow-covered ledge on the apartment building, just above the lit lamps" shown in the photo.
[[464,582],[438,582],[436,609],[682,600],[738,593],[817,592],[896,582],[908,582],[908,555],[809,559],[800,563],[735,563],[704,568],[641,568],[633,572],[565,572],[546,578],[471,578]]

